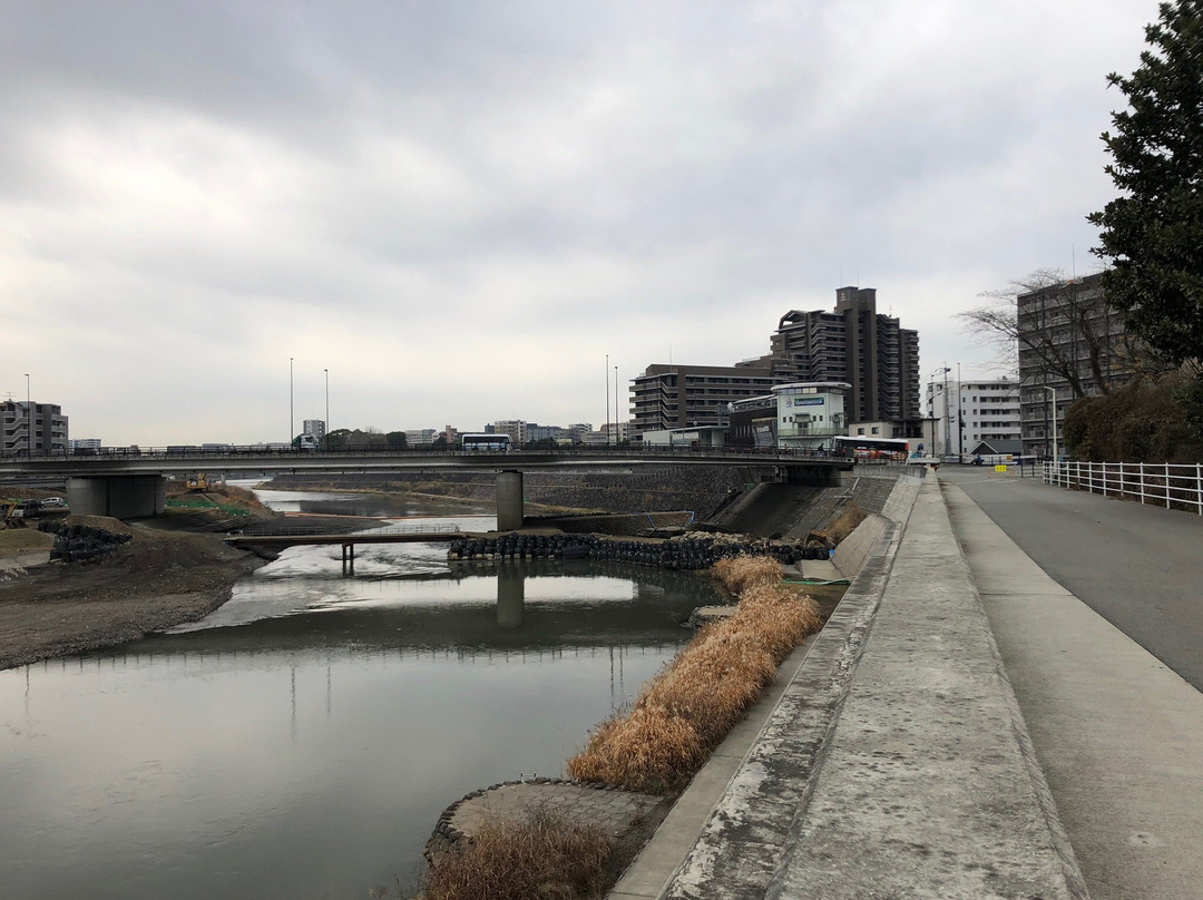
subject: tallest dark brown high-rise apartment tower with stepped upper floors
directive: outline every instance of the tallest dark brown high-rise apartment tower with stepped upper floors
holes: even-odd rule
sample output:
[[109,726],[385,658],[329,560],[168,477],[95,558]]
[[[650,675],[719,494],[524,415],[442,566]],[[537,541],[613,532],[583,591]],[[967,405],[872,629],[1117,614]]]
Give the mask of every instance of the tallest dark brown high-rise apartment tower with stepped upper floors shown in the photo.
[[918,420],[919,332],[877,312],[873,288],[840,288],[834,312],[792,309],[781,316],[769,366],[775,384],[843,381],[851,422]]

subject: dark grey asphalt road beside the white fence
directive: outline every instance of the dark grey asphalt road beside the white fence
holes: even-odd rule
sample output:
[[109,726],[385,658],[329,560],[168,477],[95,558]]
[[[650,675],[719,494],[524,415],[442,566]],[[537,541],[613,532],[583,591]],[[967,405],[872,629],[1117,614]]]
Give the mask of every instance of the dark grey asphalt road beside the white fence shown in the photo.
[[944,466],[1044,572],[1203,691],[1203,516]]

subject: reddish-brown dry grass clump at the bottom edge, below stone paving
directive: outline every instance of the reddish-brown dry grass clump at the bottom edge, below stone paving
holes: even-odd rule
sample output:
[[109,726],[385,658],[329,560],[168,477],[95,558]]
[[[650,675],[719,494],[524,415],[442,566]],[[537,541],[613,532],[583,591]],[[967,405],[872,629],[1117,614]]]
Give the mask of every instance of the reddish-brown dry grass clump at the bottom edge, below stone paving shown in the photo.
[[428,900],[599,898],[614,840],[551,816],[486,822],[427,872]]

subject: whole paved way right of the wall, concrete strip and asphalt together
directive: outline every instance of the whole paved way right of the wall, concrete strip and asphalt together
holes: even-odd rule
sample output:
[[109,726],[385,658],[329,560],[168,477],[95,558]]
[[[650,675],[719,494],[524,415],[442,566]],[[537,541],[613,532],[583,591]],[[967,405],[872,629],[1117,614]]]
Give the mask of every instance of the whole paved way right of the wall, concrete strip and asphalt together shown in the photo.
[[1203,694],[1090,608],[1198,674],[1173,632],[1203,617],[1203,528],[949,468],[953,528],[1092,900],[1203,898]]

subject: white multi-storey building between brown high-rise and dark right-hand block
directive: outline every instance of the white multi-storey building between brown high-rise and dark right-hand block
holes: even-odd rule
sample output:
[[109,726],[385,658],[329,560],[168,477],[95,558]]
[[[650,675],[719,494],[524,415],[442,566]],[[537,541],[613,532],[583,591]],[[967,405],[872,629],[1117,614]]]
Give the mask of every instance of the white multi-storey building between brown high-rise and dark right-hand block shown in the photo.
[[[962,456],[982,442],[1011,445],[1020,439],[1019,381],[928,383],[928,419],[936,432],[934,451]],[[1000,450],[1001,452],[1001,450]]]

